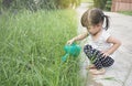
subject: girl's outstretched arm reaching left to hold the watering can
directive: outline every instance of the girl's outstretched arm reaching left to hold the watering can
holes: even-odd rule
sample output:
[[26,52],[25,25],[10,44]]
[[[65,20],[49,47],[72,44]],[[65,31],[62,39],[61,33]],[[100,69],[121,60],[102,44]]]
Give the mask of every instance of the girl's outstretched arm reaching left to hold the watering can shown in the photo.
[[73,43],[76,42],[76,41],[81,41],[81,40],[84,40],[84,39],[87,37],[87,36],[88,36],[88,32],[85,32],[85,33],[82,33],[82,34],[80,34],[80,35],[77,35],[77,36],[73,37],[72,40],[69,40],[69,41],[67,42],[67,44],[73,44]]

